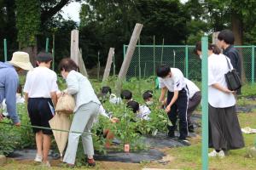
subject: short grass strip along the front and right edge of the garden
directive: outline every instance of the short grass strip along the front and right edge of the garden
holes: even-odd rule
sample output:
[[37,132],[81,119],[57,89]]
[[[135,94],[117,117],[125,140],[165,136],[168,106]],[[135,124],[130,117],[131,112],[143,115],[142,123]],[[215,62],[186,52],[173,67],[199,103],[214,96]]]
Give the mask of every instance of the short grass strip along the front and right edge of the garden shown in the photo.
[[[241,127],[256,128],[256,113],[239,114]],[[224,159],[211,158],[209,161],[210,169],[232,169],[249,170],[256,169],[256,158],[247,156],[248,148],[253,146],[256,134],[243,134],[246,147],[241,150],[231,150],[230,155]],[[168,160],[165,165],[159,162],[142,162],[140,164],[97,161],[97,166],[76,167],[75,169],[142,169],[151,168],[170,168],[170,169],[201,169],[201,138],[191,139],[192,145],[189,147],[163,149],[166,153],[165,159]],[[51,169],[63,169],[57,167],[60,161],[53,161]],[[44,169],[33,161],[14,161],[9,159],[8,163],[0,169]],[[46,168],[45,168],[46,169]]]

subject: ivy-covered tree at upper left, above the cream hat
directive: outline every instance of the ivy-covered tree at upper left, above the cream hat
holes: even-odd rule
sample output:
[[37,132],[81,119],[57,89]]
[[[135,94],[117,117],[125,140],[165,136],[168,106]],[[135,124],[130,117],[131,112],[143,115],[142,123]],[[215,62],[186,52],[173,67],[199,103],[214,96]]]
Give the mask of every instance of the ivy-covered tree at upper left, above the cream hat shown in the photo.
[[37,37],[40,31],[47,28],[49,20],[52,20],[62,7],[71,2],[73,0],[15,0],[17,40],[20,48],[30,54],[34,65],[34,58],[38,53]]

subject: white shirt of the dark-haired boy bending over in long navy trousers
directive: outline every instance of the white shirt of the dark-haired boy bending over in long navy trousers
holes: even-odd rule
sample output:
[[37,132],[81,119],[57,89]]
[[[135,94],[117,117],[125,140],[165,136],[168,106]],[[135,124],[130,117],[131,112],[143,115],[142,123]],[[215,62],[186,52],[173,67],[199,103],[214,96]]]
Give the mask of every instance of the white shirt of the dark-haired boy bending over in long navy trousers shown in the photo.
[[168,88],[170,92],[180,91],[186,87],[186,82],[182,71],[177,68],[171,68],[172,77],[159,77],[159,88]]

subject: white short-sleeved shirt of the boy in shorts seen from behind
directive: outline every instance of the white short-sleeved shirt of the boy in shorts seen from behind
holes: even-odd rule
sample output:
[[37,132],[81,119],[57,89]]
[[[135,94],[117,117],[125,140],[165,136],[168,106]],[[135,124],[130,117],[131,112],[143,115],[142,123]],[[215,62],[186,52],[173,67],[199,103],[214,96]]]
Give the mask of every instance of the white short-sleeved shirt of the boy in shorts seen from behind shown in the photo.
[[56,91],[58,91],[58,85],[55,71],[44,66],[28,71],[24,92],[29,98],[50,98],[50,93]]

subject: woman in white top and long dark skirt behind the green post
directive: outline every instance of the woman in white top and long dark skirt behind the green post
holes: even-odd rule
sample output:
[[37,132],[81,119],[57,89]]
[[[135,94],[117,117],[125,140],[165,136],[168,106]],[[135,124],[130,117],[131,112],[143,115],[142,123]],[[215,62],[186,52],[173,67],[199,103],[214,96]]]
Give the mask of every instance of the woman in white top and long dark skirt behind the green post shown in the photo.
[[[195,52],[201,56],[200,42]],[[224,77],[230,59],[212,44],[208,46],[208,55],[209,147],[214,148],[208,156],[224,157],[226,151],[242,148],[244,141],[236,116],[235,92],[227,88]]]

